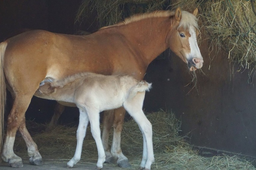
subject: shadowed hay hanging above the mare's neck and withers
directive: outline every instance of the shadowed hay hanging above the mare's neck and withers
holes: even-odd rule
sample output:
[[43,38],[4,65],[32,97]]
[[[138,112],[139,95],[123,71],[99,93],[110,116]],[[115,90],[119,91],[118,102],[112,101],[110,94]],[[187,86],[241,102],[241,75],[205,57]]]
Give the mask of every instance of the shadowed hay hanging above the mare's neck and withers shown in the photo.
[[145,11],[160,10],[168,0],[83,0],[75,21],[81,22],[96,12],[99,28],[120,22],[124,17]]

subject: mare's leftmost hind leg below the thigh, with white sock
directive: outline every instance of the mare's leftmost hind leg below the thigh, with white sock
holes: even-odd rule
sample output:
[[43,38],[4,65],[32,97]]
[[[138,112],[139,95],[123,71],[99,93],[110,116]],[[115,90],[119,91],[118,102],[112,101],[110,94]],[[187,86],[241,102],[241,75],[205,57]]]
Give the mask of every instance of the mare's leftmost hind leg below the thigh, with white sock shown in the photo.
[[8,126],[2,150],[2,159],[5,162],[8,162],[11,167],[23,167],[21,158],[14,154],[13,146],[17,129],[21,125],[23,119],[25,119],[25,112],[29,106],[31,98],[32,95],[17,94],[11,112],[8,115]]

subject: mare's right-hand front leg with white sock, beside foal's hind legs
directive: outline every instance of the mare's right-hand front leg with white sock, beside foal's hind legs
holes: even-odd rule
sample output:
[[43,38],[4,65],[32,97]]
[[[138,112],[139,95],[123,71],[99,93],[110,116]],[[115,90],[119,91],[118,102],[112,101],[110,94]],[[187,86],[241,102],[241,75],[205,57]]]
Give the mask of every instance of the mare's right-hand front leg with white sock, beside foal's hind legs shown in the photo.
[[114,158],[117,158],[117,165],[123,168],[129,168],[131,165],[128,158],[122,153],[120,143],[121,143],[121,131],[123,128],[123,119],[125,116],[125,109],[120,107],[114,110],[114,134],[111,146],[111,154]]

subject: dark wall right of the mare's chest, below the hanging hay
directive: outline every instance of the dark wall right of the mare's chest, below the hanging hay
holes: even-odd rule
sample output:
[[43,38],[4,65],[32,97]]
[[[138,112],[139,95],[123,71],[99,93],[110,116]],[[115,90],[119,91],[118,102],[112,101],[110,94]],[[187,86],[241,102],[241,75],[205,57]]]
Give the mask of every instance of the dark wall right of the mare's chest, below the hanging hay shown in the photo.
[[155,60],[146,74],[153,89],[144,107],[175,112],[181,118],[181,134],[189,133],[193,145],[255,157],[256,79],[248,76],[247,69],[239,71],[229,63],[225,52],[216,55],[216,49],[210,49],[209,55],[205,39],[202,35],[205,75],[197,71],[196,87],[190,84],[193,76],[187,66],[174,54]]

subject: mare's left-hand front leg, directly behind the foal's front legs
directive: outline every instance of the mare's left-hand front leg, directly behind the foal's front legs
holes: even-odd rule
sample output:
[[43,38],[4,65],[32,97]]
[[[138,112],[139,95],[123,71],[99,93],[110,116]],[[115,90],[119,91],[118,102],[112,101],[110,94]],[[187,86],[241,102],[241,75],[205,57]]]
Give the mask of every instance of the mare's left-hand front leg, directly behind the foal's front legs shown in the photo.
[[114,119],[114,110],[105,110],[103,113],[103,120],[102,120],[103,130],[102,130],[101,140],[102,140],[103,148],[106,154],[106,162],[109,162],[109,163],[114,162],[114,157],[110,153],[109,147],[108,147],[108,137],[109,137],[110,129],[113,125],[113,119]]

